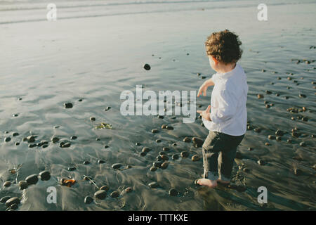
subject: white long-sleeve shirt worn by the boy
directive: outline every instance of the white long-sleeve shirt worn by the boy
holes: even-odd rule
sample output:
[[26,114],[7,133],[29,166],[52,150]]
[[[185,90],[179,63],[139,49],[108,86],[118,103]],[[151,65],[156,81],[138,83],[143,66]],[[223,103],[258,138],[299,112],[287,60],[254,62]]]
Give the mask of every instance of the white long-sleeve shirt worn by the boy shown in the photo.
[[232,136],[246,133],[248,85],[244,70],[237,63],[230,72],[218,72],[211,79],[215,84],[211,94],[211,121],[203,118],[204,126]]

